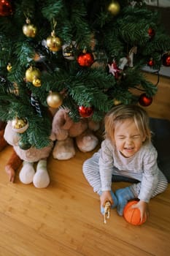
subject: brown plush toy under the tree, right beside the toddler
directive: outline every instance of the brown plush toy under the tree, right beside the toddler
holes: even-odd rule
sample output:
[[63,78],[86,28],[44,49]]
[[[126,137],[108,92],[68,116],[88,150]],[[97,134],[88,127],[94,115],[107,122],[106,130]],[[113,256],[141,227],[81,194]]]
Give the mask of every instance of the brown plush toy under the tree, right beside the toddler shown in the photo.
[[98,138],[93,132],[100,125],[90,118],[80,118],[74,122],[69,116],[69,109],[59,108],[53,116],[52,138],[55,140],[53,158],[71,159],[76,154],[75,146],[82,152],[93,151],[98,145]]

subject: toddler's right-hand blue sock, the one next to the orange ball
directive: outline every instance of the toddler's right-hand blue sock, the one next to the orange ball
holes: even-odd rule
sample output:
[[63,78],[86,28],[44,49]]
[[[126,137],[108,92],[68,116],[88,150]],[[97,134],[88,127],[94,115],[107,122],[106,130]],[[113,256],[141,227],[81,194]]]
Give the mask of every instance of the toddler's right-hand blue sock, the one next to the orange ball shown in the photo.
[[117,214],[123,216],[123,209],[128,203],[128,200],[135,198],[134,193],[130,187],[125,187],[124,189],[117,189],[115,195],[117,197]]

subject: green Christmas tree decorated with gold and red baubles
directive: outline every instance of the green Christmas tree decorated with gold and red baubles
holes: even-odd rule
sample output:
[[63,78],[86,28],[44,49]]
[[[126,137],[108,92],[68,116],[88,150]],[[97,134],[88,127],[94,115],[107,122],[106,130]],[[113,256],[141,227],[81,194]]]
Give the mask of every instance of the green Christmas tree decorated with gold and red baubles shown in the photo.
[[169,49],[144,1],[1,0],[0,119],[20,132],[21,148],[42,148],[49,108],[101,121],[117,104],[150,105],[157,88],[142,67],[169,66]]

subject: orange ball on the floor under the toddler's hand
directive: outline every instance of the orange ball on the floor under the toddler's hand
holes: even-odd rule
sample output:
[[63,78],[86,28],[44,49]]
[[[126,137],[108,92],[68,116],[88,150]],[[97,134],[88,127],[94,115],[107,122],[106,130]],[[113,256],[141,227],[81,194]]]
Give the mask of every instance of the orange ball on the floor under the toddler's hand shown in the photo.
[[134,204],[138,203],[137,200],[130,201],[126,204],[123,217],[125,218],[126,222],[131,223],[132,225],[142,225],[146,222],[147,219],[143,218],[141,222],[141,215],[139,208],[131,208]]

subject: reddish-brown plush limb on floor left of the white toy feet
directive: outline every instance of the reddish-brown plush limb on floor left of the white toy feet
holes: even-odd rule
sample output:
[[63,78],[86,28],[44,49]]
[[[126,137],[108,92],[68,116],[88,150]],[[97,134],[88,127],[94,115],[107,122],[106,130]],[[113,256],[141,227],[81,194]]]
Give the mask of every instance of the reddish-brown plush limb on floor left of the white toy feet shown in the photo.
[[15,181],[15,170],[20,167],[21,163],[22,160],[20,159],[20,157],[18,157],[18,154],[16,154],[15,150],[13,149],[12,155],[9,158],[7,165],[5,166],[6,173],[9,176],[9,181]]

